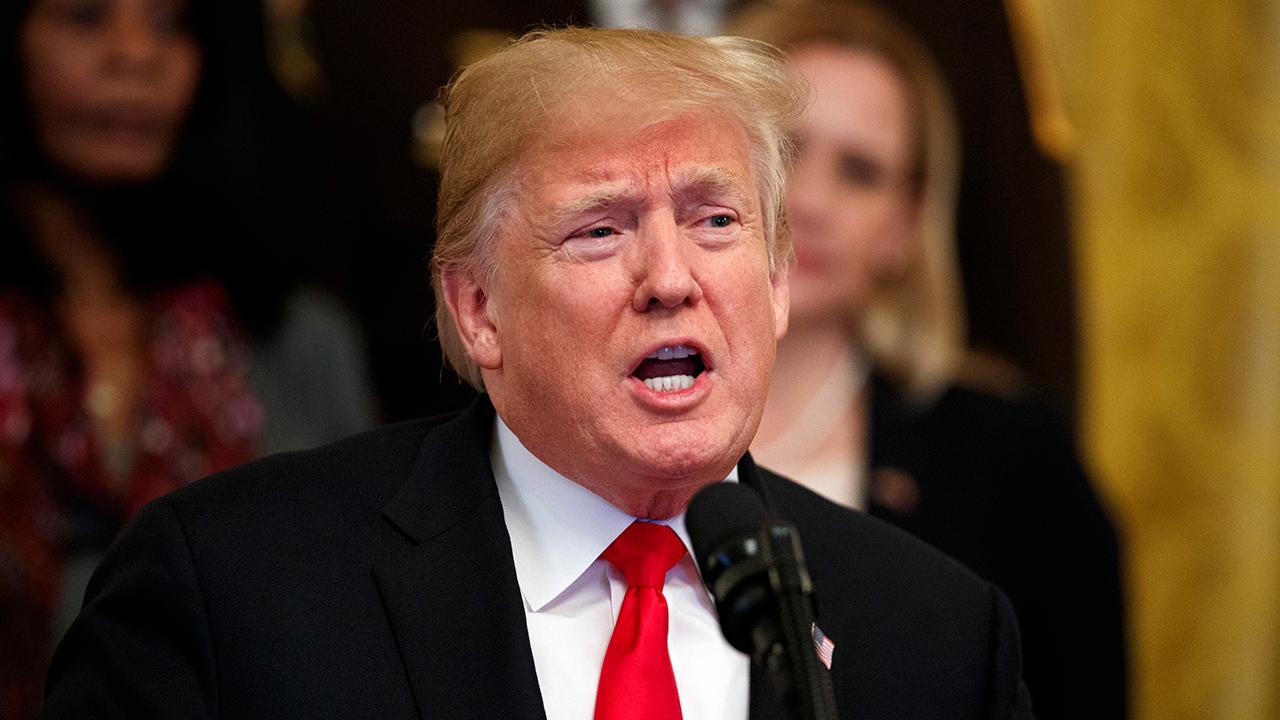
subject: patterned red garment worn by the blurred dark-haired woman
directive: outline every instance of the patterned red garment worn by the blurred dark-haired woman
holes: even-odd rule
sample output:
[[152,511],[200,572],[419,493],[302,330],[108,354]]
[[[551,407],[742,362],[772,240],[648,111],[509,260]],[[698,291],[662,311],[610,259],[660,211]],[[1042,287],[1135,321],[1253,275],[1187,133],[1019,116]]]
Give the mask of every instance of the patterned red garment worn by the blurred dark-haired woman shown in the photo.
[[0,292],[0,716],[35,715],[69,501],[123,525],[150,500],[257,454],[262,410],[225,292],[186,286],[152,300],[147,314],[136,432],[108,451],[55,316]]

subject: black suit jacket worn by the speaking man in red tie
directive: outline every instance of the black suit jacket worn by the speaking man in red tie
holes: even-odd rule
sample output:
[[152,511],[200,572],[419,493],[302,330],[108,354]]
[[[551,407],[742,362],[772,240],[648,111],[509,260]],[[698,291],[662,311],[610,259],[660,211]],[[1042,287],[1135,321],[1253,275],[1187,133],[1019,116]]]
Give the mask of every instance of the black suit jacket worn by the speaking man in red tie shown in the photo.
[[[56,652],[45,717],[543,717],[492,428],[480,401],[151,503]],[[998,591],[749,459],[740,473],[800,529],[845,717],[1030,717]],[[759,675],[751,717],[783,717]]]

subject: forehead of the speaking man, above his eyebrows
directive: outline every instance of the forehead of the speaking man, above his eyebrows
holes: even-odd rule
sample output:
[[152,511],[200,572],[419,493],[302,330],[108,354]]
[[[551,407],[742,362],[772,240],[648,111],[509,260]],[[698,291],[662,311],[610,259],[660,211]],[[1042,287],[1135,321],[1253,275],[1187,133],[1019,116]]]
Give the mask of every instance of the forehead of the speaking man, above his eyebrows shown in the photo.
[[686,113],[634,131],[593,122],[531,147],[522,163],[527,200],[572,202],[582,196],[660,195],[705,190],[754,202],[746,132],[714,113]]

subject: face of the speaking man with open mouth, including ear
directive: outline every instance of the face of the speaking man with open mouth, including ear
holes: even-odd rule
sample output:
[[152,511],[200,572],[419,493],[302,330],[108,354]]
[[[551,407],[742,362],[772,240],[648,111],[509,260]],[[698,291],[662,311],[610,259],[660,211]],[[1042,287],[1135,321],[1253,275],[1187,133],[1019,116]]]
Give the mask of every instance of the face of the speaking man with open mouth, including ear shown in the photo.
[[636,515],[684,509],[759,424],[786,329],[746,136],[686,114],[522,163],[490,287],[447,290],[503,420]]

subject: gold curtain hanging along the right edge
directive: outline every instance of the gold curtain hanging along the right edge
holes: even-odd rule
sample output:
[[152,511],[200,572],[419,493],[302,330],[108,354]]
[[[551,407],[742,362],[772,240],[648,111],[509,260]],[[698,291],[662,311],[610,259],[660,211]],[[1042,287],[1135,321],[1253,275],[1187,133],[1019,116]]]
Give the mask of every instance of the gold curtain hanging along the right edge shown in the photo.
[[1280,5],[1009,4],[1061,91],[1033,115],[1070,123],[1082,432],[1128,539],[1135,717],[1280,719]]

